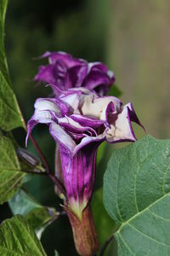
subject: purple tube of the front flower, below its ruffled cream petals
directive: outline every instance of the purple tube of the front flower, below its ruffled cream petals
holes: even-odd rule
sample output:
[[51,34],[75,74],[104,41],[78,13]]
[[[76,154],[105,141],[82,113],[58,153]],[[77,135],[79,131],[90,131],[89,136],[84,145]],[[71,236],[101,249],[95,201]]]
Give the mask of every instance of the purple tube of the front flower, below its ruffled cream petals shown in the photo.
[[87,206],[92,195],[98,147],[99,143],[96,142],[88,144],[71,157],[65,148],[60,146],[66,193],[71,210],[78,216],[82,215],[82,210]]

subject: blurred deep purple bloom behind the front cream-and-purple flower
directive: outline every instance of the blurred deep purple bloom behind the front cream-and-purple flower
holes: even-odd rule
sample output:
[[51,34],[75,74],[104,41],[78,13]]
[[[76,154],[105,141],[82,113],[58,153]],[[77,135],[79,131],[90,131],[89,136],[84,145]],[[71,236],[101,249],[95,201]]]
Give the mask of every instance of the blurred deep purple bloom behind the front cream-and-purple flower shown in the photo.
[[42,58],[48,58],[49,64],[39,68],[35,80],[51,84],[56,95],[58,88],[81,86],[105,95],[115,81],[114,73],[101,62],[88,63],[64,52],[46,52]]

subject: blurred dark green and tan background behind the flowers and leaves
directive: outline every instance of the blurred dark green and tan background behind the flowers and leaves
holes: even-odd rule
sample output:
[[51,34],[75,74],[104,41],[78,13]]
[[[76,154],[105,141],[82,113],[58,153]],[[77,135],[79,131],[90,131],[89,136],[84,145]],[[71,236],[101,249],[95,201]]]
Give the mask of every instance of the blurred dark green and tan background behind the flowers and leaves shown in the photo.
[[[42,64],[34,58],[46,50],[62,50],[88,61],[104,61],[116,74],[122,102],[133,102],[146,131],[154,137],[170,137],[169,21],[167,0],[10,0],[5,45],[14,91],[26,121],[33,113],[35,99],[51,92],[33,82]],[[25,148],[24,131],[17,129],[14,134]],[[33,134],[54,168],[54,140],[48,129],[39,126]],[[139,129],[137,134],[144,135]],[[107,154],[97,172],[96,188],[102,184],[111,154],[111,147],[105,147]],[[31,143],[28,150],[35,153]],[[34,178],[27,189],[43,204],[59,207],[54,186],[45,178]],[[0,211],[1,221],[11,216],[7,204],[0,206]],[[42,244],[49,256],[54,255],[54,249],[60,256],[77,255],[66,217],[48,227]]]

